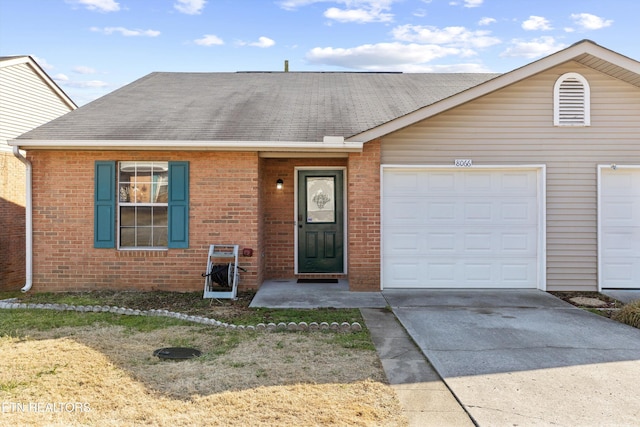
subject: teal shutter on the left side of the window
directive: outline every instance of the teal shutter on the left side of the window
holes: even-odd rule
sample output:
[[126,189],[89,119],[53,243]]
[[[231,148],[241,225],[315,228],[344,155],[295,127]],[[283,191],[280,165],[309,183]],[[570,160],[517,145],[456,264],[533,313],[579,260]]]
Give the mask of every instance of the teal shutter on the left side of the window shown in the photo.
[[94,193],[95,248],[116,246],[116,162],[97,161]]

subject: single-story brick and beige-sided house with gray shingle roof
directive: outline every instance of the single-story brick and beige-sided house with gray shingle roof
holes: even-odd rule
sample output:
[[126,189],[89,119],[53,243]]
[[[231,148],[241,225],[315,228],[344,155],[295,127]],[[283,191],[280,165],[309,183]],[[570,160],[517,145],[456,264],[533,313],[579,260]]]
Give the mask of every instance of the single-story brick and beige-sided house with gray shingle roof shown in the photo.
[[[22,135],[34,289],[640,285],[640,63],[503,75],[153,73]],[[279,184],[279,185],[277,185]],[[281,188],[278,188],[281,187]]]

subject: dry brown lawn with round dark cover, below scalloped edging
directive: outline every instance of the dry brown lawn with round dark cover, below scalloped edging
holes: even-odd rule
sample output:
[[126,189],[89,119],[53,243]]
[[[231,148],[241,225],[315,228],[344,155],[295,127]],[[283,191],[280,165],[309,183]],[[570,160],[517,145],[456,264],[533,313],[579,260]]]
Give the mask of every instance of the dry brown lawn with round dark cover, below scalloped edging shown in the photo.
[[[344,349],[322,334],[243,334],[238,339],[195,326],[144,333],[106,326],[0,338],[0,423],[406,425],[374,352]],[[152,356],[156,348],[175,345],[204,355],[181,362]],[[215,346],[228,350],[217,354]],[[56,412],[15,406],[30,402],[83,406],[69,412],[60,405]]]

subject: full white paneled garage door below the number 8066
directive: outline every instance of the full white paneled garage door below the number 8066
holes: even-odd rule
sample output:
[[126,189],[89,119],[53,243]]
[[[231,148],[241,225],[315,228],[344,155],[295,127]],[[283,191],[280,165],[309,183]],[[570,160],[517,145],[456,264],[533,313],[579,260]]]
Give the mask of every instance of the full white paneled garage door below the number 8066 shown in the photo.
[[383,288],[542,288],[539,175],[385,167]]

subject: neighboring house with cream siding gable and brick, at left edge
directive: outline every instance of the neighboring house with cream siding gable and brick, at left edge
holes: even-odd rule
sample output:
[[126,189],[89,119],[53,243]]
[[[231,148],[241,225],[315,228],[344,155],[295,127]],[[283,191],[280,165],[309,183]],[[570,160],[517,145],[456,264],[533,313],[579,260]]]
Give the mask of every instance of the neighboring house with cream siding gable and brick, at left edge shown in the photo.
[[0,57],[0,290],[25,284],[25,165],[7,141],[75,110],[29,56]]

